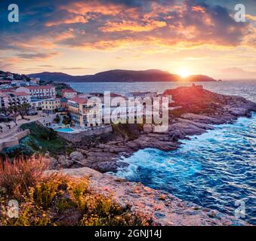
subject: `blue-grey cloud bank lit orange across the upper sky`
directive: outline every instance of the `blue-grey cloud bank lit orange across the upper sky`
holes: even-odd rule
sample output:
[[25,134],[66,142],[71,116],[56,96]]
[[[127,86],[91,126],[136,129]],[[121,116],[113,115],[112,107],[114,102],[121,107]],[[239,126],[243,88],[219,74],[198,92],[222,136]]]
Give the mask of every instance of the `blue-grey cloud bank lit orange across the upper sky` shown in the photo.
[[45,58],[46,53],[32,53],[38,47],[104,49],[136,42],[236,46],[248,34],[249,23],[236,23],[230,10],[214,1],[17,0],[20,23],[8,23],[8,2],[0,3],[0,49],[20,51],[17,56],[24,59]]

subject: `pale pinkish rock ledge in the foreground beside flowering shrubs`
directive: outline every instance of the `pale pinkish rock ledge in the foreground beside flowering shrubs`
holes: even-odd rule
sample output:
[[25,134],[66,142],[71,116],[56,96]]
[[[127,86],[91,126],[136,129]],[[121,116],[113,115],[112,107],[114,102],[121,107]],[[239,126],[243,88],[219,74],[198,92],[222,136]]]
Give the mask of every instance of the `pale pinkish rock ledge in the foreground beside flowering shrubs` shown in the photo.
[[102,174],[94,169],[84,167],[63,169],[62,172],[75,178],[87,176],[91,190],[106,196],[113,195],[122,207],[129,206],[132,212],[150,215],[157,225],[248,225],[238,218],[202,208],[194,203],[184,202],[163,191],[156,191],[134,182],[126,182],[122,178]]

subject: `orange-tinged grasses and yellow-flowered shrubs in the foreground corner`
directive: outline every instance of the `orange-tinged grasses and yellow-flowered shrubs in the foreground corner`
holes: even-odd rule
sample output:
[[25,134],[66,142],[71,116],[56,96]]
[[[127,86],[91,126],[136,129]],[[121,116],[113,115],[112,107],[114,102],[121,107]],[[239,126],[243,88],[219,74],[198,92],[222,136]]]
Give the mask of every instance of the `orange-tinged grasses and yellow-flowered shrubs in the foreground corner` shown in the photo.
[[[46,175],[44,160],[8,160],[0,166],[0,225],[150,225],[151,218],[132,213],[88,188],[88,178],[60,173]],[[19,215],[10,218],[9,200],[17,200]]]

